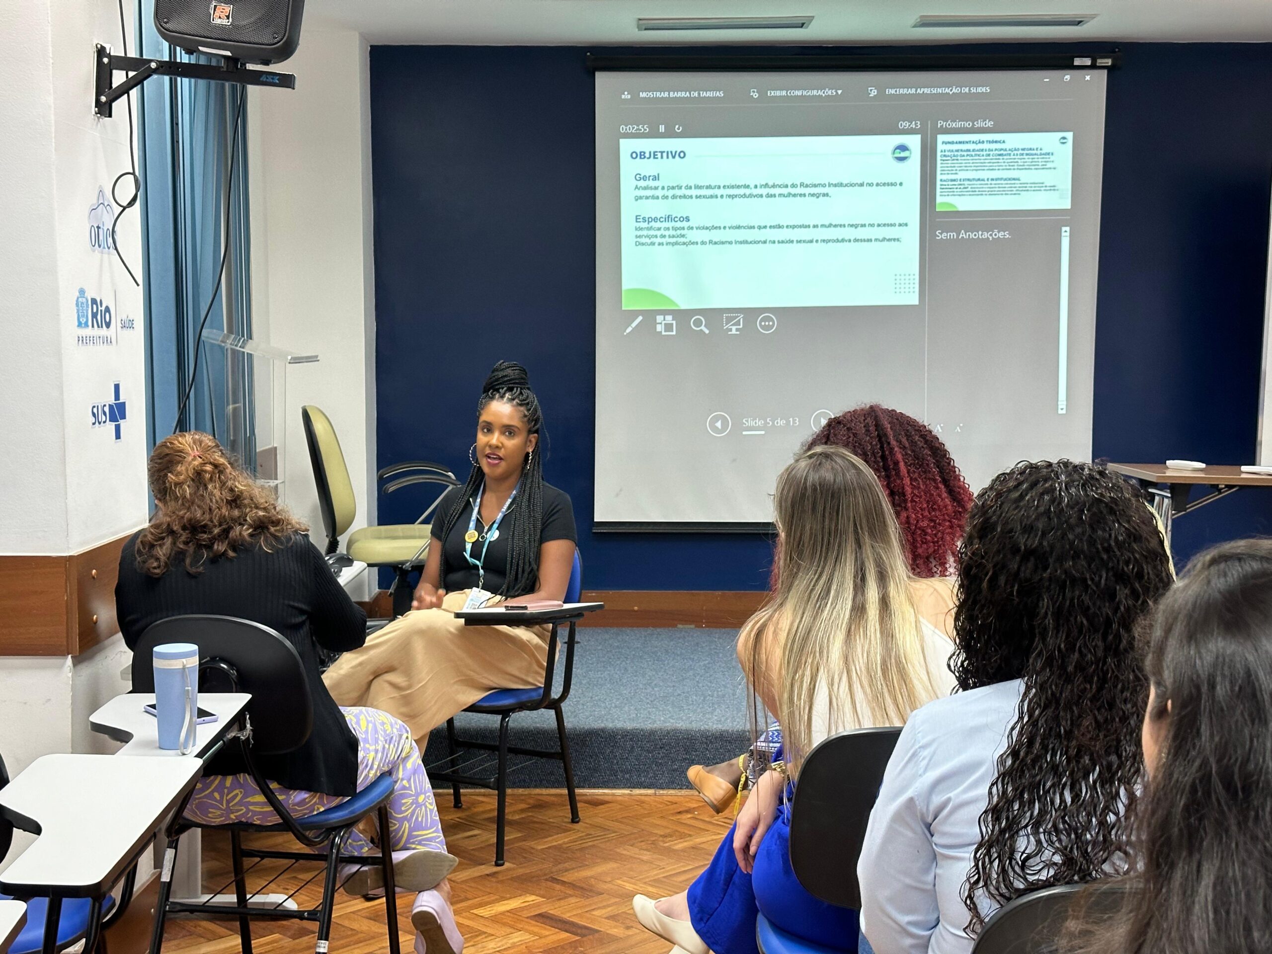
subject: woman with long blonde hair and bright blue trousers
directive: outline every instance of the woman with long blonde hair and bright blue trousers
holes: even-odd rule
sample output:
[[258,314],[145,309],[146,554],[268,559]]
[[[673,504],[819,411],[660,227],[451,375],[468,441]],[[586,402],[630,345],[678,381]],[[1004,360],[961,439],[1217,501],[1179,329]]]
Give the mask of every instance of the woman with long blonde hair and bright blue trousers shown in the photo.
[[[865,462],[836,446],[804,452],[777,478],[773,509],[777,588],[743,626],[738,659],[778,717],[794,778],[828,735],[898,725],[946,695],[954,645],[925,618],[929,581],[911,575],[897,518]],[[948,609],[934,614],[937,623]],[[857,912],[818,901],[795,880],[785,787],[776,771],[761,776],[687,892],[656,902],[636,895],[641,925],[689,954],[754,954],[763,911],[799,937],[855,946]]]

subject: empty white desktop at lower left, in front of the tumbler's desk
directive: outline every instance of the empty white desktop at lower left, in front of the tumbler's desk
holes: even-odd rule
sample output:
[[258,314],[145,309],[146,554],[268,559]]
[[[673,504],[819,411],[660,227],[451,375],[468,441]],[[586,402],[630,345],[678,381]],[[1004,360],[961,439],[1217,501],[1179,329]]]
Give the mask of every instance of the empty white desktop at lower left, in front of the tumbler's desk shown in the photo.
[[193,756],[43,756],[0,789],[0,813],[39,837],[0,874],[0,890],[104,895],[141,856],[204,771]]

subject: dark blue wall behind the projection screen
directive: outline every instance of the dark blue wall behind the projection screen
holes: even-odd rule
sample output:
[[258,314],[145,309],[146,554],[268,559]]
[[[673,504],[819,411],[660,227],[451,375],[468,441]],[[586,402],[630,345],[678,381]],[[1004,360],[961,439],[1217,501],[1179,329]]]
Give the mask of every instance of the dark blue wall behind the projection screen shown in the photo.
[[[1028,50],[963,51],[1004,48]],[[1108,84],[1094,453],[1249,462],[1272,46],[1122,50]],[[543,403],[548,481],[574,499],[586,586],[759,589],[770,547],[758,537],[590,533],[595,177],[585,52],[373,47],[379,463],[425,457],[466,472],[481,382],[496,360],[515,359]],[[813,67],[819,53],[857,51],[805,52]],[[413,492],[382,499],[380,522],[415,519]],[[1243,491],[1178,522],[1175,551],[1269,528],[1272,494]]]

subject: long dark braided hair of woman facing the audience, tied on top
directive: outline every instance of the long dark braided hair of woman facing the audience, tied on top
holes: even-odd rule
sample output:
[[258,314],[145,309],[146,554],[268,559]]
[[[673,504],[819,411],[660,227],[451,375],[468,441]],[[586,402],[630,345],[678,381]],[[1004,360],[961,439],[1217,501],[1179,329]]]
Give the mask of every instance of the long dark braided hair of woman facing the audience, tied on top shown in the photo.
[[[481,387],[481,397],[477,399],[477,416],[486,410],[492,401],[502,401],[519,408],[525,418],[528,434],[539,434],[538,446],[543,446],[543,411],[539,410],[539,399],[530,391],[530,375],[516,361],[500,361],[490,369],[486,383]],[[441,516],[438,539],[446,539],[459,514],[463,513],[468,501],[472,500],[485,482],[481,464],[473,464],[468,472],[468,481],[463,492],[455,497],[455,502]],[[515,508],[520,510],[519,516],[513,522],[511,537],[508,547],[508,575],[504,579],[504,588],[500,597],[524,597],[533,593],[539,583],[539,534],[543,530],[543,454],[530,454],[529,463],[522,471],[520,488],[516,491]],[[446,579],[446,550],[441,548],[441,562],[439,566],[440,579]]]

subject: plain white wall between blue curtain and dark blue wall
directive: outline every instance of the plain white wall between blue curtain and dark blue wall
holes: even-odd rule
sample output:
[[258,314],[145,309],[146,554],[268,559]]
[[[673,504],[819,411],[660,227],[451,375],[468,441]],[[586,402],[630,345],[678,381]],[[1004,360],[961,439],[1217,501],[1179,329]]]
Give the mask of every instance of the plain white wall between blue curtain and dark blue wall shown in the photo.
[[252,308],[257,338],[321,357],[289,371],[285,497],[322,546],[301,404],[322,407],[340,436],[357,500],[354,528],[375,520],[368,46],[352,31],[307,20],[282,69],[296,74],[294,90],[248,98]]

